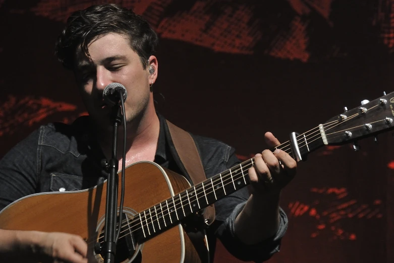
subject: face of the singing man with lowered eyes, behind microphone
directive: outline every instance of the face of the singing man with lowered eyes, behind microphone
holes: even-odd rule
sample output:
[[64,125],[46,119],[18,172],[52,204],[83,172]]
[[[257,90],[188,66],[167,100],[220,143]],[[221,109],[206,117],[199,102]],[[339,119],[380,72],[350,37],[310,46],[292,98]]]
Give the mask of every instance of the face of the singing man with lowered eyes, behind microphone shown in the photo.
[[111,109],[104,104],[102,92],[108,84],[123,84],[128,93],[125,102],[128,122],[142,117],[153,107],[149,83],[152,76],[144,69],[138,54],[124,35],[109,33],[88,45],[91,61],[81,52],[76,55],[75,76],[89,115],[102,126],[111,125]]

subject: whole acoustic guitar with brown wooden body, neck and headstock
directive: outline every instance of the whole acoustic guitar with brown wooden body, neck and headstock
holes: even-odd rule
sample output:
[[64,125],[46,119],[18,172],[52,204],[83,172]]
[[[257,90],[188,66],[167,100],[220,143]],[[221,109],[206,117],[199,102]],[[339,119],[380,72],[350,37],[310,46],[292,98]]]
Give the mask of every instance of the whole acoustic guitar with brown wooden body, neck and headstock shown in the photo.
[[[292,133],[290,141],[277,148],[299,161],[324,145],[355,142],[391,130],[393,105],[394,93],[372,102],[363,101],[361,107],[335,116],[303,134]],[[357,150],[357,144],[354,147]],[[185,220],[247,186],[248,168],[253,165],[254,158],[251,158],[195,186],[153,162],[128,166],[125,188],[130,194],[125,195],[125,216],[116,261],[207,261],[207,253],[201,252],[198,242],[190,239],[190,233],[185,231]],[[77,234],[88,243],[89,262],[103,262],[94,247],[104,238],[105,189],[106,182],[87,190],[21,198],[0,212],[0,228]]]

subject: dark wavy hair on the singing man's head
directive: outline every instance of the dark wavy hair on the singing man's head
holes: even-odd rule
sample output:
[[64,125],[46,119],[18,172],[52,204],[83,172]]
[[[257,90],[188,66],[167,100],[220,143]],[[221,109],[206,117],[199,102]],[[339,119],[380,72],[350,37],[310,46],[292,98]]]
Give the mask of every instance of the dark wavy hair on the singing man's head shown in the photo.
[[115,4],[95,5],[74,12],[56,41],[55,55],[66,68],[73,70],[77,49],[90,58],[88,44],[107,33],[128,36],[130,47],[139,55],[143,68],[146,68],[149,56],[156,51],[157,34],[141,16]]

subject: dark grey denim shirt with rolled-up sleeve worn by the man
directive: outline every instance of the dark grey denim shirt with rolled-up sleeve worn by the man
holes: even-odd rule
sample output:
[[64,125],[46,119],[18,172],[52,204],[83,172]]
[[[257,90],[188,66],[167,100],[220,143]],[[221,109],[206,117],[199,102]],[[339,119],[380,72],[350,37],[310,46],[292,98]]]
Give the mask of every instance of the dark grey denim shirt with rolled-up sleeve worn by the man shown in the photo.
[[[159,115],[159,120],[155,162],[182,174],[192,184],[183,165],[179,165],[179,156],[164,118]],[[100,161],[104,155],[95,138],[90,135],[89,127],[89,117],[86,116],[80,117],[72,125],[42,125],[13,147],[0,160],[0,210],[31,194],[82,190],[103,183],[107,174]],[[240,163],[234,148],[229,145],[202,136],[192,137],[207,178]],[[245,245],[235,236],[235,218],[248,198],[247,189],[243,188],[214,204],[215,222],[207,229],[211,252],[215,247],[212,244],[215,237],[242,260],[261,262],[279,251],[280,240],[288,224],[282,209],[279,210],[280,225],[275,236],[255,245]]]

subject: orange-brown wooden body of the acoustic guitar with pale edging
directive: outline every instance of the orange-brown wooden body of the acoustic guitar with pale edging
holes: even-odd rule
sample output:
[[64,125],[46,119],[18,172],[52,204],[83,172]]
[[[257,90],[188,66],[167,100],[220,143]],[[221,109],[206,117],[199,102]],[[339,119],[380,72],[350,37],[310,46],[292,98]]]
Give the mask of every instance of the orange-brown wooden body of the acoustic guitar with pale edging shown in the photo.
[[[168,169],[164,170],[153,162],[132,164],[125,171],[124,211],[132,220],[134,215],[138,215],[138,212],[146,207],[151,207],[189,187],[190,184],[185,178]],[[118,193],[119,206],[121,186]],[[0,213],[0,228],[77,234],[88,243],[89,262],[102,262],[102,257],[94,253],[94,245],[103,230],[105,202],[106,182],[88,190],[34,194],[21,198],[4,209]],[[193,240],[193,243],[204,244],[204,240]],[[126,253],[126,256],[116,261],[207,261],[207,254],[197,253],[193,243],[179,224],[138,244],[138,249],[133,255],[121,251],[125,247],[118,245],[117,254]]]

